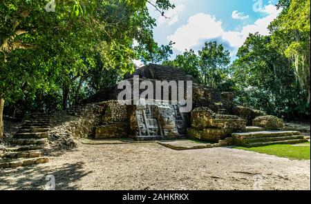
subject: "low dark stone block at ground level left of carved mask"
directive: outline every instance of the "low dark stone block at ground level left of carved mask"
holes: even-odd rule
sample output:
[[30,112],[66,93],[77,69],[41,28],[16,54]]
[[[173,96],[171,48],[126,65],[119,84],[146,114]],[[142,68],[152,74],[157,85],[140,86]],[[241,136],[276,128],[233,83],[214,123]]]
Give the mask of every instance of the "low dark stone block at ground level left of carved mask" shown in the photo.
[[96,128],[95,139],[121,138],[127,136],[127,124],[124,122],[111,123]]

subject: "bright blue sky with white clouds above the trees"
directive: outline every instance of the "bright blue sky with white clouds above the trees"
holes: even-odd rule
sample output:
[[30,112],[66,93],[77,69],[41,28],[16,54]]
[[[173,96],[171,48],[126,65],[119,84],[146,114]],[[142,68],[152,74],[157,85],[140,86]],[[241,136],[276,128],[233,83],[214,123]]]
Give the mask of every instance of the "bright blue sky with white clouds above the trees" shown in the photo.
[[[153,0],[155,1],[155,0]],[[200,50],[205,41],[218,41],[231,52],[232,60],[249,33],[268,34],[267,26],[277,17],[278,0],[170,0],[176,8],[157,19],[154,38],[159,44],[173,41],[173,56],[186,49]]]

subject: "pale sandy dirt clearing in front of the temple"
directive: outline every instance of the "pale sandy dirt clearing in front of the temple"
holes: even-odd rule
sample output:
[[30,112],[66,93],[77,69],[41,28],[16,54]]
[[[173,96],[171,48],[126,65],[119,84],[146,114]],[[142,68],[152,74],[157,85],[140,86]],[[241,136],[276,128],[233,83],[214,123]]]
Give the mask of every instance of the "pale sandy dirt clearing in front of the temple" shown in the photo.
[[48,174],[57,190],[310,190],[310,160],[156,143],[81,144],[46,164],[0,170],[0,190],[43,190]]

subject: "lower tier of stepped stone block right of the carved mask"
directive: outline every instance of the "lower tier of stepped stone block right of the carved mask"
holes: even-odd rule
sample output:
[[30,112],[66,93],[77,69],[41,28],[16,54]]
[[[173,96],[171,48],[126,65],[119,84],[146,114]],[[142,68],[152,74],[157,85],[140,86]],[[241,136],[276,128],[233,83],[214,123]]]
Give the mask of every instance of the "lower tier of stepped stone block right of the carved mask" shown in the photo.
[[219,140],[225,139],[232,133],[231,129],[220,129],[220,128],[206,128],[198,130],[195,128],[189,128],[188,136],[192,139],[199,139],[202,141],[218,142]]

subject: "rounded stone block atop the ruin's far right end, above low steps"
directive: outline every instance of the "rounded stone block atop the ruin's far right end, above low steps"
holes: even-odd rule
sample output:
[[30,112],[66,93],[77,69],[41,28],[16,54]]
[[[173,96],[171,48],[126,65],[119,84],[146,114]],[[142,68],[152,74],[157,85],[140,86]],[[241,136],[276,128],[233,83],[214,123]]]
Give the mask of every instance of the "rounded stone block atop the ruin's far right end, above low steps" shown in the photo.
[[280,129],[283,128],[284,121],[276,116],[258,116],[253,120],[253,125],[266,129]]

